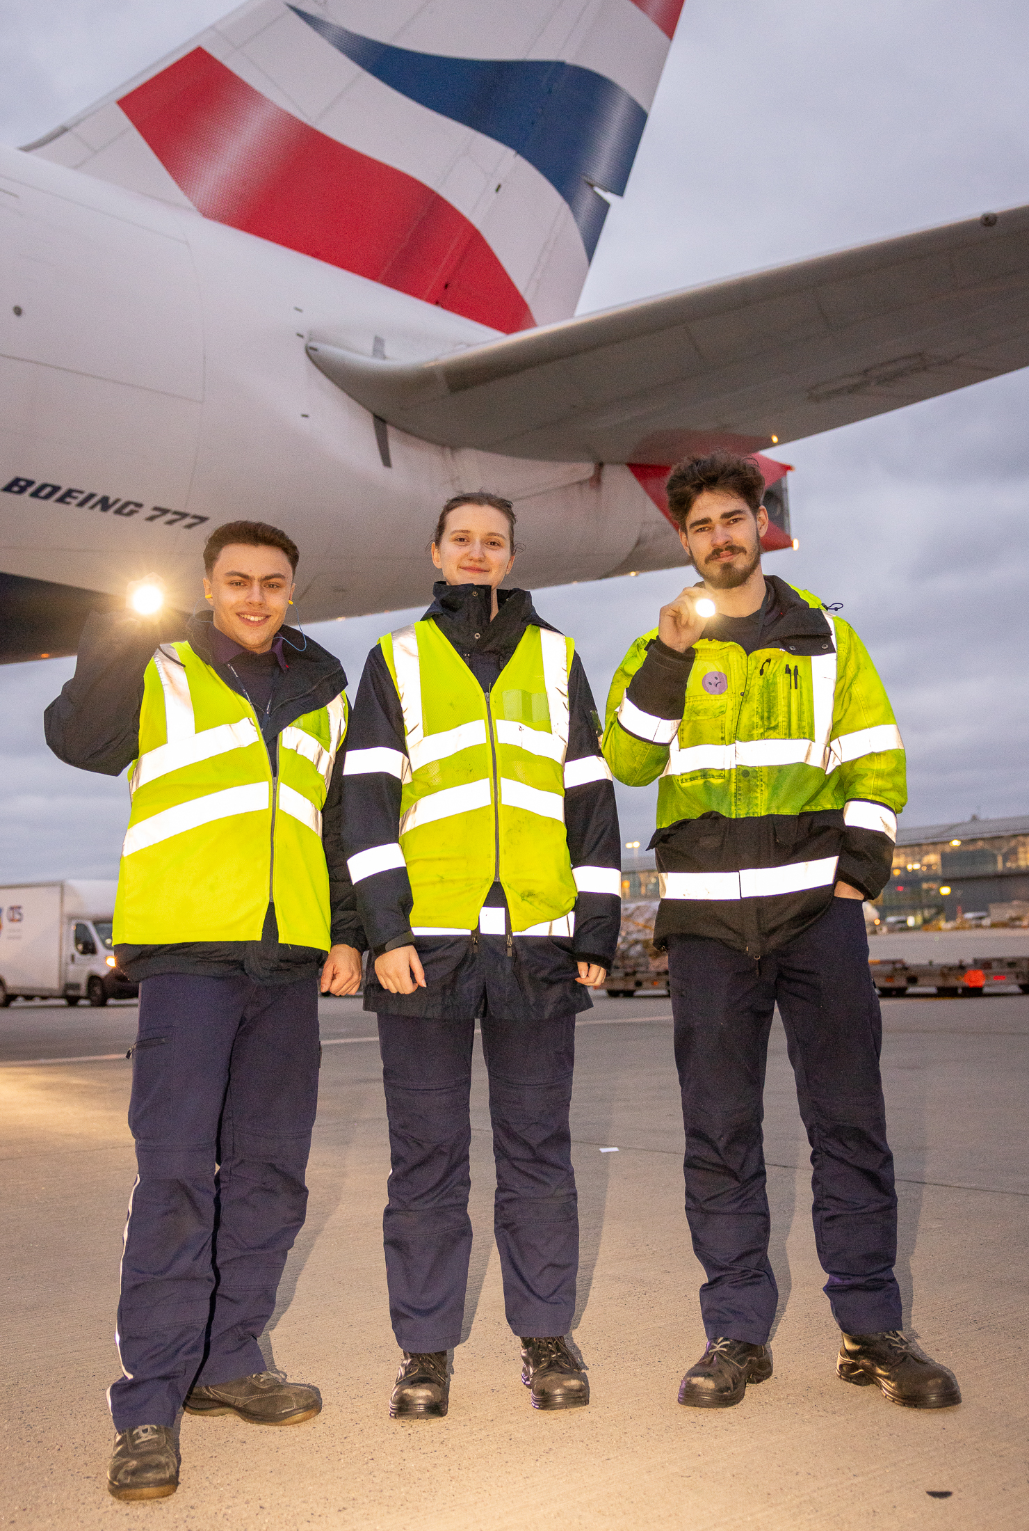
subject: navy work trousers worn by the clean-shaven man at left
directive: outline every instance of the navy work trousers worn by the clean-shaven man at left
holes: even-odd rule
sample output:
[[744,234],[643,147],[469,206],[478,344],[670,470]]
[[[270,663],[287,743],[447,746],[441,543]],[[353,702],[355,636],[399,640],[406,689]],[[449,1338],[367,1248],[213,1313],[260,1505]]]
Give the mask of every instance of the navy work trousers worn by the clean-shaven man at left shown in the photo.
[[265,1370],[257,1340],[304,1222],[316,1101],[313,978],[144,978],[116,1430],[174,1424],[194,1382]]

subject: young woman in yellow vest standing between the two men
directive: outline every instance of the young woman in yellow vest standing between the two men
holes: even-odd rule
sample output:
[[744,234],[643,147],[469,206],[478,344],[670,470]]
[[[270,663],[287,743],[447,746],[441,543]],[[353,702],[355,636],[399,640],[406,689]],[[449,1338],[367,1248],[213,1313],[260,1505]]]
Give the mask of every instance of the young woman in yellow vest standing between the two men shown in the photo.
[[390,1415],[446,1413],[471,1254],[468,1096],[489,1073],[494,1226],[508,1323],[535,1409],[589,1402],[569,1350],[578,1211],[569,1139],[575,1015],[619,926],[615,788],[572,640],[524,589],[514,510],[448,501],[443,579],[368,655],[344,775],[346,850],[375,971],[391,1167],[384,1216]]

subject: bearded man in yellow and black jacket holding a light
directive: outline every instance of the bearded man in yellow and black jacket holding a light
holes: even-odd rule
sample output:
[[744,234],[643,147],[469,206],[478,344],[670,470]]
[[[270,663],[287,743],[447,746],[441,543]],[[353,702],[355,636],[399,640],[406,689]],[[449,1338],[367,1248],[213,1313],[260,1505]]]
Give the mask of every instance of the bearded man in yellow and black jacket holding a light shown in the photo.
[[913,1409],[960,1402],[901,1332],[882,1024],[862,899],[890,876],[904,746],[856,632],[761,573],[757,464],[680,462],[668,505],[702,583],[661,608],[615,675],[604,755],[661,778],[661,906],[687,1134],[687,1217],[708,1346],[679,1402],[738,1404],[772,1375],[761,1116],[778,1004],[812,1145],[815,1242],[838,1375]]

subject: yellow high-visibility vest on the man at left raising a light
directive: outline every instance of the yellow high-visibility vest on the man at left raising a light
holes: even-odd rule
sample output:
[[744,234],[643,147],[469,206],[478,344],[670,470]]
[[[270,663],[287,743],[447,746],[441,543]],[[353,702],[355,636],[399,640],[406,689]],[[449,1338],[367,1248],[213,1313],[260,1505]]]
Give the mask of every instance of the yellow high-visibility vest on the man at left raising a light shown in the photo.
[[257,942],[269,900],[278,939],[327,951],[321,808],[347,730],[344,695],[278,735],[272,775],[257,715],[188,643],[144,678],[139,759],[115,903],[115,943]]

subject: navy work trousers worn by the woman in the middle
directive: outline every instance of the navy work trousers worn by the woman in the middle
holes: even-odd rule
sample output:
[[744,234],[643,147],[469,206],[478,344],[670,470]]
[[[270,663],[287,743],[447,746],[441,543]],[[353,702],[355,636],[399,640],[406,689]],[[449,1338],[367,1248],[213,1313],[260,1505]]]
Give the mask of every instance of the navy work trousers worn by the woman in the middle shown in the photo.
[[[471,1257],[469,1087],[476,1023],[379,1015],[390,1119],[382,1217],[390,1317],[401,1349],[460,1341]],[[575,1017],[485,1017],[497,1194],[494,1232],[508,1323],[563,1335],[575,1314],[579,1219],[569,1105]]]

